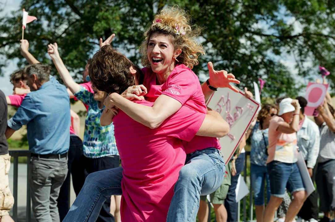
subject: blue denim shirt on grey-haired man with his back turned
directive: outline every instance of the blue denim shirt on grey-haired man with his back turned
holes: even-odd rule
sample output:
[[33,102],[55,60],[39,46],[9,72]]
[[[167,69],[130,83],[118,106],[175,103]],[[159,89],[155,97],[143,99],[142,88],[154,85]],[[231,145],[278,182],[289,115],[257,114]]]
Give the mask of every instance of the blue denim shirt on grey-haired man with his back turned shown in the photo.
[[27,125],[29,151],[36,154],[63,154],[70,146],[70,102],[64,85],[50,78],[40,89],[28,93],[8,127]]

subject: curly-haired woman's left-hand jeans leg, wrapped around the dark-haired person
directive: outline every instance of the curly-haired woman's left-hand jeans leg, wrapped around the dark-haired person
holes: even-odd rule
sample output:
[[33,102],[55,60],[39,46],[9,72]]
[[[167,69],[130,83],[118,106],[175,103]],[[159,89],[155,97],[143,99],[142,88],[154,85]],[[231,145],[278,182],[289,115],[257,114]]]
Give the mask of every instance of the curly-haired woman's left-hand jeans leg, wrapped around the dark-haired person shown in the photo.
[[122,167],[117,167],[89,174],[63,221],[95,222],[106,198],[122,195],[122,171]]

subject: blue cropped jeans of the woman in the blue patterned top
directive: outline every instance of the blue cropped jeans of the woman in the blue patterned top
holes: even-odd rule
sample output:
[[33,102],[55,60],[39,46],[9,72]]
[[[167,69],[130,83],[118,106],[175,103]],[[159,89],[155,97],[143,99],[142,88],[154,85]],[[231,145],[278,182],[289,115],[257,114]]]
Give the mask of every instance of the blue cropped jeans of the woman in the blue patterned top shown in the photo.
[[254,191],[255,205],[264,206],[264,183],[266,182],[267,202],[270,200],[270,179],[266,166],[250,164],[250,176]]

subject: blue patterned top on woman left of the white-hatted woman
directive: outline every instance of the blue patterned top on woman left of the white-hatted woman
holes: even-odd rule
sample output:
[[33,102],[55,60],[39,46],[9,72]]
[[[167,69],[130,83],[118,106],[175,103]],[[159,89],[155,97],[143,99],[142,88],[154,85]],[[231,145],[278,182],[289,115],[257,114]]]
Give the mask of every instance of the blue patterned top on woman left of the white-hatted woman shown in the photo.
[[269,145],[269,129],[263,130],[264,141],[262,130],[259,129],[259,125],[259,122],[255,124],[251,135],[250,163],[258,166],[266,166],[268,155],[266,155],[265,150]]

